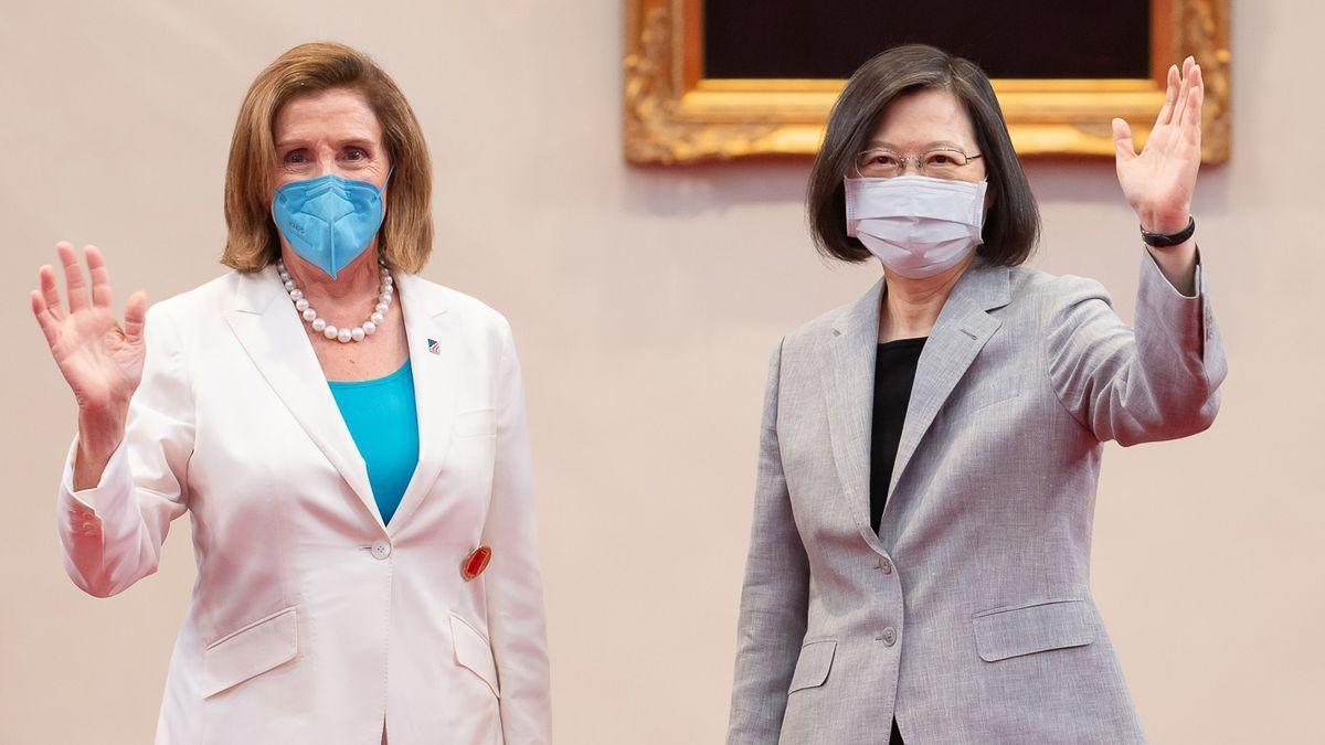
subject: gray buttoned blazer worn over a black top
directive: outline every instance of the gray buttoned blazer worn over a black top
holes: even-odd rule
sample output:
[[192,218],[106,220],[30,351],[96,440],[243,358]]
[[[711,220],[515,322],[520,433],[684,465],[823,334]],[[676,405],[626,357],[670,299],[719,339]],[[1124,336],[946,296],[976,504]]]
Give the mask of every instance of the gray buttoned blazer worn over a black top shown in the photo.
[[1210,427],[1200,266],[1142,257],[1136,330],[1093,280],[983,260],[916,370],[880,534],[882,281],[783,338],[765,403],[727,742],[1143,742],[1090,598],[1101,443]]

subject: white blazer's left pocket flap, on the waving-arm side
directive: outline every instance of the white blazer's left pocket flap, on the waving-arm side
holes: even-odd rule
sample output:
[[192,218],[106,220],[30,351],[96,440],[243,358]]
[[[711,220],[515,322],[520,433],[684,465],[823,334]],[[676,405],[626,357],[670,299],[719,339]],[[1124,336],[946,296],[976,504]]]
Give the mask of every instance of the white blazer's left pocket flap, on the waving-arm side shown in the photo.
[[293,660],[298,636],[298,618],[292,606],[212,642],[203,651],[203,697]]

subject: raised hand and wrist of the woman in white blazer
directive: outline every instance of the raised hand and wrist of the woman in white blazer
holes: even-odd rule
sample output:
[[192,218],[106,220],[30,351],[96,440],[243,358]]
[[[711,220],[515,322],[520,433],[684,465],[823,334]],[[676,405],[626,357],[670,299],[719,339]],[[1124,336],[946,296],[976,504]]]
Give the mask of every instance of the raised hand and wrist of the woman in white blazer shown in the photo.
[[[83,248],[91,280],[90,301],[89,281],[73,244],[61,241],[56,252],[65,269],[69,306],[61,305],[56,270],[46,265],[40,272],[41,289],[32,290],[32,313],[78,402],[80,455],[99,460],[103,467],[105,459],[119,445],[129,399],[143,376],[147,297],[142,292],[129,297],[121,325],[110,308],[110,273],[101,251],[94,245]],[[99,476],[97,464],[80,465],[91,465]]]

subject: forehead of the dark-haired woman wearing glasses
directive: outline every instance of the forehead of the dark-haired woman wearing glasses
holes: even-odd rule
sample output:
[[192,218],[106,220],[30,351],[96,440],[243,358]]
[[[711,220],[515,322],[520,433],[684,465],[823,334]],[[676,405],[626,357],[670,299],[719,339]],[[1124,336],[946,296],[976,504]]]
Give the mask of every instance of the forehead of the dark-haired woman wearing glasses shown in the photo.
[[869,143],[901,150],[934,144],[975,147],[975,127],[962,102],[950,90],[922,89],[893,98],[874,121]]

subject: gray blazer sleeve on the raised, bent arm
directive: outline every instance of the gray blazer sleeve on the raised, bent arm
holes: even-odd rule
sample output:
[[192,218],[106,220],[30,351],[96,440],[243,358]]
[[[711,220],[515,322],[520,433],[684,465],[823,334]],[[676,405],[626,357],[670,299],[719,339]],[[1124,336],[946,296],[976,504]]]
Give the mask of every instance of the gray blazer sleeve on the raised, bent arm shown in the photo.
[[1210,427],[1227,367],[1199,255],[1194,296],[1143,251],[1136,329],[1100,282],[1059,278],[1048,308],[1047,370],[1059,400],[1101,440],[1173,440]]

